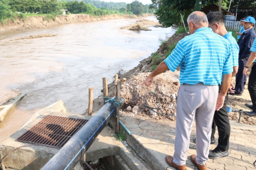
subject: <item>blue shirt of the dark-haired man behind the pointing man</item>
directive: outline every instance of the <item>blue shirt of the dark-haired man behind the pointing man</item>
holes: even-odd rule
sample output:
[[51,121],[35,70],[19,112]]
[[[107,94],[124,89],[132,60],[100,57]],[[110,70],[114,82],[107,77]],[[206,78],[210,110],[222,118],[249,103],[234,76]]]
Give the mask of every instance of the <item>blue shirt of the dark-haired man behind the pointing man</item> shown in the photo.
[[232,36],[232,32],[226,33],[226,35],[223,37],[228,40],[230,44],[233,66],[238,66],[239,46],[236,42],[236,39]]

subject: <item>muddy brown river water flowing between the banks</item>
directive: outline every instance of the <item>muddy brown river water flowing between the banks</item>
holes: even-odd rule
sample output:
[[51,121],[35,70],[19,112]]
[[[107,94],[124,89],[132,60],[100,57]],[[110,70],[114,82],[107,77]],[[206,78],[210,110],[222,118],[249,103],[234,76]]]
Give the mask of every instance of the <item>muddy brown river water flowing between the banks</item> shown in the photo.
[[[146,19],[157,21],[154,16]],[[0,33],[0,104],[27,93],[17,109],[0,123],[0,143],[17,131],[36,111],[62,100],[71,113],[83,114],[88,88],[101,95],[102,78],[137,66],[155,52],[173,28],[151,31],[120,29],[139,19],[63,24],[41,29]],[[48,33],[55,37],[14,40]]]

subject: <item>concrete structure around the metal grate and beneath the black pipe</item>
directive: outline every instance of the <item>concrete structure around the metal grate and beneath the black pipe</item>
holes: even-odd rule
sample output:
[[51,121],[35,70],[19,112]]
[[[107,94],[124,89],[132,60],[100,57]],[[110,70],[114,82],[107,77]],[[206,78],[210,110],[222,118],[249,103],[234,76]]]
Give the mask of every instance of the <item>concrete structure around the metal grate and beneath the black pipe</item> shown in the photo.
[[[3,161],[4,169],[41,169],[55,154],[57,154],[59,149],[56,148],[30,145],[31,143],[15,141],[47,115],[82,118],[86,120],[90,120],[92,117],[87,115],[67,113],[68,111],[65,108],[66,107],[61,100],[43,108],[41,111],[35,113],[35,115],[32,116],[19,131],[15,132],[11,135],[11,137],[3,141],[0,148],[0,160],[9,154],[9,152],[11,152],[13,149],[20,147],[17,150],[11,152],[11,154]],[[56,110],[62,112],[52,112]],[[124,162],[131,169],[147,169],[139,162],[138,159],[135,159],[132,156],[129,150],[126,150],[121,141],[115,140],[114,132],[109,128],[109,126],[106,126],[101,131],[97,139],[95,139],[91,147],[86,151],[83,159],[87,162],[90,160],[96,160],[114,155],[121,156]]]

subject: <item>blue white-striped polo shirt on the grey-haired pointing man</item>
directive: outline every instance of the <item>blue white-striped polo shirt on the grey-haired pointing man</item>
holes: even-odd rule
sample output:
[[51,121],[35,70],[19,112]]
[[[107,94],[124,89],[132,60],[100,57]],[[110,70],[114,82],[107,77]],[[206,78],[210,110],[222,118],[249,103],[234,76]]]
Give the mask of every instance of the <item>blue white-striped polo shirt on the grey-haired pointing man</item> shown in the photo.
[[229,42],[206,27],[180,40],[164,62],[171,71],[180,65],[180,84],[218,85],[233,72]]

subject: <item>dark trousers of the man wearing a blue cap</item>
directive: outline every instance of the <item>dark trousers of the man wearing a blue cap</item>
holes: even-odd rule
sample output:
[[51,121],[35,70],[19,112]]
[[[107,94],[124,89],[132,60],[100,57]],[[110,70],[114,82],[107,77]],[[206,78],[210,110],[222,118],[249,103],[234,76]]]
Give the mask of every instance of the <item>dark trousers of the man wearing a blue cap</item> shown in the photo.
[[244,85],[246,83],[247,75],[243,74],[244,66],[246,65],[246,61],[238,60],[238,71],[236,73],[236,93],[242,94],[244,92]]

